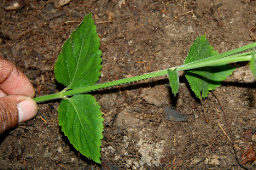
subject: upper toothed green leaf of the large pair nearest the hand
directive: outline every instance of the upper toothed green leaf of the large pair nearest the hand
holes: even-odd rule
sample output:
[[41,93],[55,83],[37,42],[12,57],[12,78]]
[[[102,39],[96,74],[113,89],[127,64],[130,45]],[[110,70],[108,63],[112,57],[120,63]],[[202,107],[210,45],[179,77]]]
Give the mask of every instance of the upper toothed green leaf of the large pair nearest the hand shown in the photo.
[[91,14],[64,42],[61,54],[55,63],[55,78],[66,89],[83,88],[95,84],[101,76],[102,51],[100,38]]

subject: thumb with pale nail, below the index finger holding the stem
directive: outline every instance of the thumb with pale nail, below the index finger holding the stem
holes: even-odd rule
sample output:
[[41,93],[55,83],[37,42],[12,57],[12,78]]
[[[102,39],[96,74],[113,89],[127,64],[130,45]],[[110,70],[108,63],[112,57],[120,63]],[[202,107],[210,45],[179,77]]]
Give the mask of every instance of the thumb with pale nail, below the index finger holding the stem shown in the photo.
[[37,103],[26,96],[10,95],[0,98],[0,134],[36,116]]

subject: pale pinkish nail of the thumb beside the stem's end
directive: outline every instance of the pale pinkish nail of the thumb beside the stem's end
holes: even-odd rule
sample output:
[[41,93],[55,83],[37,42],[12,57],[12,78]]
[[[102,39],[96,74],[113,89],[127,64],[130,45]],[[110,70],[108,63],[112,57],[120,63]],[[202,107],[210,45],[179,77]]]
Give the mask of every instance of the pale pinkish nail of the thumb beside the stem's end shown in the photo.
[[37,103],[33,99],[26,99],[18,104],[19,123],[26,122],[36,116],[38,111]]

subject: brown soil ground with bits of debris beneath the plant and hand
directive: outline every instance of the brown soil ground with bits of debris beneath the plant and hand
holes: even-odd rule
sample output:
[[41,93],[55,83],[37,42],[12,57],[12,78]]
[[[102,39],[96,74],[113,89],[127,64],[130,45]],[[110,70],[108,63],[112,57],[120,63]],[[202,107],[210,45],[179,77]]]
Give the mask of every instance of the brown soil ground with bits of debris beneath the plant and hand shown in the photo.
[[[255,42],[255,0],[73,0],[60,7],[57,1],[26,0],[14,10],[7,10],[14,7],[9,1],[0,3],[0,55],[25,72],[36,96],[61,90],[55,60],[90,12],[101,37],[99,82],[182,65],[201,35],[219,53]],[[93,93],[105,118],[102,165],[79,155],[61,133],[59,100],[39,104],[35,118],[1,135],[0,167],[255,169],[255,161],[239,163],[249,146],[256,149],[256,83],[247,63],[236,67],[201,100],[182,73],[177,97],[167,77]]]

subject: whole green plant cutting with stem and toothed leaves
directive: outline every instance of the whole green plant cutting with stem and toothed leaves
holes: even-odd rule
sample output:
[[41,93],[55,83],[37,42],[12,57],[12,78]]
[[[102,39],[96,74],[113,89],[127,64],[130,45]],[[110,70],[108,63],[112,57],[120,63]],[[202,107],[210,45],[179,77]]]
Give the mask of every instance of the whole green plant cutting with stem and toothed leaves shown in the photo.
[[[201,99],[206,98],[210,90],[221,86],[226,77],[232,74],[235,67],[229,63],[249,61],[251,71],[256,77],[255,52],[256,42],[236,48],[224,54],[213,51],[206,36],[197,37],[189,49],[183,65],[155,71],[137,77],[129,77],[113,82],[96,84],[101,76],[102,52],[100,38],[96,33],[94,20],[87,14],[84,20],[64,42],[61,54],[55,63],[55,78],[66,88],[56,94],[34,98],[38,103],[52,99],[61,99],[59,105],[59,124],[76,150],[101,163],[101,139],[103,138],[103,117],[91,91],[109,88],[121,84],[136,82],[152,77],[167,75],[172,93],[176,95],[179,88],[177,72],[184,71],[190,88]],[[243,51],[246,51],[241,53]]]

